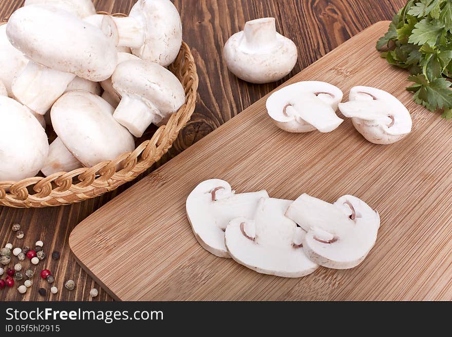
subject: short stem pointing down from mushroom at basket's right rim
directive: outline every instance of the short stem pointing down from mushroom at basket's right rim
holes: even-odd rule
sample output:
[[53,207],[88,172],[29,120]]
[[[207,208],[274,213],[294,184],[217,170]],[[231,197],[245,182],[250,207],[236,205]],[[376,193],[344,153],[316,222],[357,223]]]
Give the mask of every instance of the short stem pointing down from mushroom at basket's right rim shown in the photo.
[[159,110],[152,103],[144,102],[144,97],[123,95],[113,114],[115,120],[126,127],[131,134],[141,137],[151,123],[162,120]]

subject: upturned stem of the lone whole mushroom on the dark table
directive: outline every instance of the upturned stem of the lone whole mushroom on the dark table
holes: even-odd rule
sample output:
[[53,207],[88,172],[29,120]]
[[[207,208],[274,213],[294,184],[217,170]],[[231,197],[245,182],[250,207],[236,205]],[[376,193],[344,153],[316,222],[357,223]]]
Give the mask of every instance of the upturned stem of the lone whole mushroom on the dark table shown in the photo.
[[243,31],[246,43],[250,49],[268,49],[276,42],[274,17],[263,17],[248,21]]

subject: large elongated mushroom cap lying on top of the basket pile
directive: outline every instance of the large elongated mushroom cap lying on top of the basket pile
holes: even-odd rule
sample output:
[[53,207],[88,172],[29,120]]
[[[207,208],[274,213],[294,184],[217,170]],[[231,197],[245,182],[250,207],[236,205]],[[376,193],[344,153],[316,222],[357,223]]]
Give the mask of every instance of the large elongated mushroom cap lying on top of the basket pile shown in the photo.
[[[111,22],[107,28],[111,36],[116,26]],[[34,62],[90,81],[106,80],[118,62],[114,39],[58,7],[19,8],[11,15],[6,33],[11,44]]]

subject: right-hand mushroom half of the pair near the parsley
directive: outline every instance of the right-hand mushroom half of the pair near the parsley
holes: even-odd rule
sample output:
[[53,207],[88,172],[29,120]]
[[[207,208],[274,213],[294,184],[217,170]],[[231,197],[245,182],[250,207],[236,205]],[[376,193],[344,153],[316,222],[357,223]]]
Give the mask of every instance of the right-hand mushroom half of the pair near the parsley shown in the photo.
[[391,144],[411,132],[411,116],[407,108],[390,93],[357,86],[350,90],[349,102],[339,109],[351,117],[354,127],[369,142]]

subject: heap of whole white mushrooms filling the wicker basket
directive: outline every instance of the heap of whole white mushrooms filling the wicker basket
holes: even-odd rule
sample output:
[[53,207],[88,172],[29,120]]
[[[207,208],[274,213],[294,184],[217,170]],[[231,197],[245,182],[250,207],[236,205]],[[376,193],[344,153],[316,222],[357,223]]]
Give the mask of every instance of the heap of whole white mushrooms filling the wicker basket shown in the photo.
[[[185,103],[182,84],[164,68],[181,43],[170,0],[139,0],[121,18],[96,14],[91,0],[26,0],[0,26],[0,181],[133,151],[134,136]],[[56,133],[50,146],[46,123]]]

